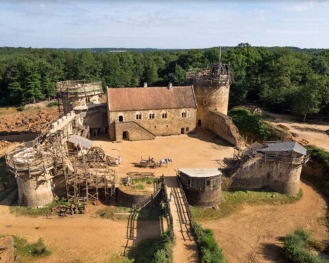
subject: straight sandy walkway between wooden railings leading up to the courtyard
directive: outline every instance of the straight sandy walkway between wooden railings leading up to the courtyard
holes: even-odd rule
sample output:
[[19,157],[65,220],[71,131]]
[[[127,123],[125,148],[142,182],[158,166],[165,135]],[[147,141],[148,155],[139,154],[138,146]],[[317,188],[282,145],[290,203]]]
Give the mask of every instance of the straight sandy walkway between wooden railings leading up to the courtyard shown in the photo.
[[[175,176],[165,177],[168,194],[173,192],[170,208],[173,214],[173,232],[175,247],[173,247],[173,262],[190,263],[197,261],[197,243],[193,236],[191,222],[188,219],[182,192]],[[169,198],[169,197],[168,197]]]

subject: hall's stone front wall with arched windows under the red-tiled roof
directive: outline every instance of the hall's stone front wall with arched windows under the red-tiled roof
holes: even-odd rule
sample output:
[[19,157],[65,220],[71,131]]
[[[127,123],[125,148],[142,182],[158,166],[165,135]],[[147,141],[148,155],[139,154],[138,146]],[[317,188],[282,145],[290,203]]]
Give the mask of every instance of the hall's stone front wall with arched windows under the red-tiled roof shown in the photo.
[[[183,110],[184,109],[108,112],[110,139],[121,140],[122,133],[120,135],[119,132],[116,131],[117,127],[119,127],[117,123],[125,122],[138,123],[138,125],[156,136],[181,134],[182,128],[184,129],[184,134],[186,134],[195,129],[196,109],[186,108],[186,118],[182,117]],[[142,116],[141,120],[136,119],[136,114],[139,112]],[[149,118],[150,112],[154,112],[154,118]],[[162,118],[162,113],[164,112],[167,112],[167,118]],[[123,122],[119,122],[119,116],[123,116]],[[115,125],[114,122],[116,123]],[[134,127],[136,128],[137,126],[132,124],[132,132],[130,132],[129,129],[127,129],[127,131],[132,134],[134,132]],[[140,129],[138,130],[140,131]],[[121,129],[120,132],[124,131]],[[117,134],[119,134],[118,138],[116,136]],[[137,134],[136,137],[134,137],[134,140],[145,139],[144,136],[141,137],[141,139],[138,139],[138,136],[140,135]]]

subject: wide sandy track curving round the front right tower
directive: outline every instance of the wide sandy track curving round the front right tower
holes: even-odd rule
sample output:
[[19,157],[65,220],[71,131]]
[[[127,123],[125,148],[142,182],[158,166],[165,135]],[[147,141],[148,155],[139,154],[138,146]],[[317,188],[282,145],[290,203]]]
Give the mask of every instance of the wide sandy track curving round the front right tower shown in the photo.
[[328,240],[328,229],[319,223],[327,205],[312,186],[301,183],[303,197],[289,205],[245,206],[218,221],[204,221],[212,229],[228,262],[280,262],[282,237],[304,227],[317,240]]

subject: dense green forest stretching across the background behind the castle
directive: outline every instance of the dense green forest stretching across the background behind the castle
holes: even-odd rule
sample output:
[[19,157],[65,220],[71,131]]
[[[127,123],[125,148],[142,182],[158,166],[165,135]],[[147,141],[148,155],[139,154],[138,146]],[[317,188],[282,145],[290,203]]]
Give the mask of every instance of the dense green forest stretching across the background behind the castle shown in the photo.
[[[100,50],[100,51],[99,51]],[[234,82],[230,107],[256,103],[303,118],[329,116],[329,50],[291,47],[223,49]],[[108,52],[102,49],[0,48],[0,105],[22,105],[56,96],[56,82],[101,80],[104,88],[185,84],[189,68],[219,60],[219,49]]]

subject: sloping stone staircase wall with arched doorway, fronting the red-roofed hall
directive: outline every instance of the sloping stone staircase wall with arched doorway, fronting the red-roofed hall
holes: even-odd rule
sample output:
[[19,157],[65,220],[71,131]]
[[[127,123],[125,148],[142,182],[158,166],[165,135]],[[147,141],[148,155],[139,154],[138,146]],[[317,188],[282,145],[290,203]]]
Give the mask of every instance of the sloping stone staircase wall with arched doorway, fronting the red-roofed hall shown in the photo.
[[123,140],[124,132],[126,133],[125,136],[127,140],[152,140],[156,137],[154,134],[147,131],[147,129],[141,125],[138,125],[138,123],[135,123],[134,121],[115,123],[116,140]]

